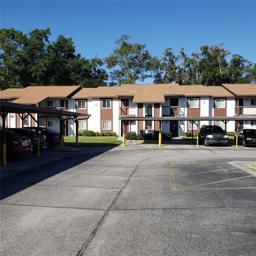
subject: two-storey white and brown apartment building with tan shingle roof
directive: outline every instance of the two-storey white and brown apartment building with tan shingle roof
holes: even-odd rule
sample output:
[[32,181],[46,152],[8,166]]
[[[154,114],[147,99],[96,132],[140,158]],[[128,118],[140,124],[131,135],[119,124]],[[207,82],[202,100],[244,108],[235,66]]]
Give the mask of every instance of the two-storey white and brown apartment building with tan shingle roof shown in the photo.
[[[256,84],[223,84],[206,87],[202,85],[178,84],[123,84],[120,87],[81,88],[79,86],[38,86],[24,89],[7,89],[0,92],[1,100],[31,104],[42,107],[65,109],[92,116],[78,123],[78,130],[136,133],[159,133],[158,121],[133,121],[124,124],[119,117],[209,117],[233,116],[235,114],[256,116]],[[37,117],[36,117],[37,118]],[[59,130],[59,120],[54,116],[39,116],[41,126]],[[7,127],[21,127],[18,115],[8,114]],[[236,123],[229,121],[201,121],[203,124],[216,124],[226,131],[237,127],[256,128],[255,121]],[[34,125],[29,117],[23,126]],[[197,125],[193,125],[197,132]],[[63,122],[64,135],[75,135],[72,120]],[[166,121],[162,132],[172,132],[173,136],[184,136],[192,131],[189,121]]]

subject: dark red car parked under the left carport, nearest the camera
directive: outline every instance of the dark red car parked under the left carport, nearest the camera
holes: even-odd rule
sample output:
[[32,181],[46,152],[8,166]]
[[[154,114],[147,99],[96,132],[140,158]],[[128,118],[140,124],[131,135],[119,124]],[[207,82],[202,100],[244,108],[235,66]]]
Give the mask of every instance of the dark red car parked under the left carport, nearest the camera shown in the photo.
[[[28,137],[20,136],[14,132],[5,131],[6,136],[6,156],[13,157],[20,154],[31,153],[33,146],[31,140]],[[3,149],[3,130],[0,131],[1,139],[1,157]]]

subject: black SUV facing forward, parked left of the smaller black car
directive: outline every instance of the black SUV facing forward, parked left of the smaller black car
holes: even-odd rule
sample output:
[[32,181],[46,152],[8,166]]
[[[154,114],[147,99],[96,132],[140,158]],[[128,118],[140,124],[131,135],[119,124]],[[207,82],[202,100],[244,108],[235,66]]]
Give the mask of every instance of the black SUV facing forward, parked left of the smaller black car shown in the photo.
[[218,125],[202,125],[198,132],[199,143],[203,142],[207,147],[209,144],[223,144],[228,146],[228,135]]

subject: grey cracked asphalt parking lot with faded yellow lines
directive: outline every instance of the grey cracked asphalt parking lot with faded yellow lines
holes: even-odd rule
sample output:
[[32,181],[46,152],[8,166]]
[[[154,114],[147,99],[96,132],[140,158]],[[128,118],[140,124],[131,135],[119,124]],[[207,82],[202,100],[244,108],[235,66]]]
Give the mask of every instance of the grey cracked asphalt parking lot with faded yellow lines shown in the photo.
[[1,255],[255,255],[256,148],[127,143],[1,179]]

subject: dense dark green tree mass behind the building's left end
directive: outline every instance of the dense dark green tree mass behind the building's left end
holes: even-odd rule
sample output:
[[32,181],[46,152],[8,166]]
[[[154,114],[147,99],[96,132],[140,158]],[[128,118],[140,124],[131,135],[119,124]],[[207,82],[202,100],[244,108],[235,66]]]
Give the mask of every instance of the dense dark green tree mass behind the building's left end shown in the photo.
[[1,30],[1,89],[40,85],[106,86],[108,79],[98,57],[76,54],[71,37],[49,41],[50,29],[25,35]]

